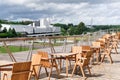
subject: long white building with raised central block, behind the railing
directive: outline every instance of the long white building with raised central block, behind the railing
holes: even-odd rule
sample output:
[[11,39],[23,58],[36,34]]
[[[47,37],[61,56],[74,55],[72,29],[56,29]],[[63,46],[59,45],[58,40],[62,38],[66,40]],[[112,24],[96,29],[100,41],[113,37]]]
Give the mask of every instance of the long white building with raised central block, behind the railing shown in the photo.
[[11,24],[1,24],[3,30],[6,28],[14,28],[16,32],[27,32],[28,34],[43,34],[43,33],[55,33],[60,34],[61,29],[60,27],[54,27],[50,25],[50,19],[44,18],[39,21],[34,21],[32,24],[29,25],[11,25]]

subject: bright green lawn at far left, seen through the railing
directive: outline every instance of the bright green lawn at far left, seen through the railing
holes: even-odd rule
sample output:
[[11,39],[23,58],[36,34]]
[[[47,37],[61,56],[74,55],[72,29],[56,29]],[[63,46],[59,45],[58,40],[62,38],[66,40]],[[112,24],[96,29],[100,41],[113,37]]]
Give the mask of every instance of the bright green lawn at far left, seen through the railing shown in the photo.
[[[29,48],[20,47],[20,46],[8,46],[11,52],[20,52],[20,51],[27,51]],[[0,47],[0,53],[7,53],[5,47]]]

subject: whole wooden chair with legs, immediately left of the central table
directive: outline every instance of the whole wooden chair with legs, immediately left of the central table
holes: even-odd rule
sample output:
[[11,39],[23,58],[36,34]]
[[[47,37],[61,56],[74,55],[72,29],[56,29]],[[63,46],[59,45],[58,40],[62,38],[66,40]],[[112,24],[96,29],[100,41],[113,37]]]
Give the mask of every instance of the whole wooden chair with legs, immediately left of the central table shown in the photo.
[[[52,69],[53,69],[53,67],[55,67],[56,71],[57,71],[57,74],[58,74],[58,77],[59,77],[59,70],[58,70],[58,65],[56,63],[56,59],[55,58],[49,58],[47,52],[38,51],[38,54],[41,55],[40,71],[41,71],[41,68],[44,67],[45,71],[46,71],[46,74],[49,77],[48,79],[50,80],[50,76],[52,74]],[[48,72],[47,72],[47,68],[50,68],[49,75],[48,75]]]

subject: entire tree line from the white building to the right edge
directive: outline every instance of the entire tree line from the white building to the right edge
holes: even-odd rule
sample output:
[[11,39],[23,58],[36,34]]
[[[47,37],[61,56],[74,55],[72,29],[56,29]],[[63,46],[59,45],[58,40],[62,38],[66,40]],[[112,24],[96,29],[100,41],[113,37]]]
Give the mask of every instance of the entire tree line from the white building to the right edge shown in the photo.
[[87,32],[96,32],[99,30],[118,30],[120,31],[120,25],[89,25],[91,28],[87,27],[83,22],[80,22],[78,25],[69,24],[61,24],[56,23],[52,24],[56,27],[61,27],[61,35],[80,35],[86,34]]

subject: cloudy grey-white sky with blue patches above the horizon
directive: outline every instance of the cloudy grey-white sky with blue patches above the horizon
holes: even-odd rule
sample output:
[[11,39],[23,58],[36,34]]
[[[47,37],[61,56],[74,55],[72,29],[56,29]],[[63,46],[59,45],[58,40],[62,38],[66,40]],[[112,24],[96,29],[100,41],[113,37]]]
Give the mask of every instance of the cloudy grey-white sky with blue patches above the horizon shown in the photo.
[[0,0],[0,19],[120,24],[120,0]]

